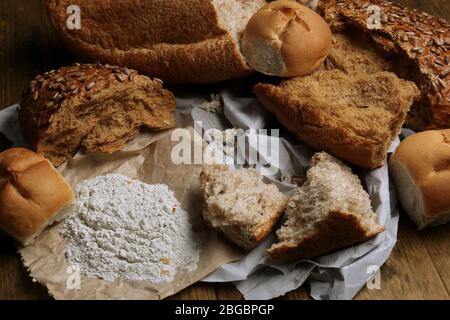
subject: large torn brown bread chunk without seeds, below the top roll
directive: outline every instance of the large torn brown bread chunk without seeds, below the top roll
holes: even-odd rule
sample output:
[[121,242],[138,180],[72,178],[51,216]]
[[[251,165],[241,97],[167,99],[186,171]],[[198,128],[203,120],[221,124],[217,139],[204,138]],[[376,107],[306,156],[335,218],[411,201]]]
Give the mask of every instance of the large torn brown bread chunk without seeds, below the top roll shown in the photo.
[[258,84],[254,91],[300,140],[365,168],[383,165],[419,95],[414,83],[393,73],[337,69],[284,80],[279,86]]

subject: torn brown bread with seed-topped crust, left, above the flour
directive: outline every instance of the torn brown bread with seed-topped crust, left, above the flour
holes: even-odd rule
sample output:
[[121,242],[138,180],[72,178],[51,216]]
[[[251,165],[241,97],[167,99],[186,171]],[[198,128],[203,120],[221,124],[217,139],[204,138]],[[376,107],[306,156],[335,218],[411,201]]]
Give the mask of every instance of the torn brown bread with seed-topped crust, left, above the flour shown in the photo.
[[60,165],[80,148],[119,151],[140,128],[174,127],[175,105],[157,79],[126,67],[74,64],[37,76],[19,119],[32,148]]

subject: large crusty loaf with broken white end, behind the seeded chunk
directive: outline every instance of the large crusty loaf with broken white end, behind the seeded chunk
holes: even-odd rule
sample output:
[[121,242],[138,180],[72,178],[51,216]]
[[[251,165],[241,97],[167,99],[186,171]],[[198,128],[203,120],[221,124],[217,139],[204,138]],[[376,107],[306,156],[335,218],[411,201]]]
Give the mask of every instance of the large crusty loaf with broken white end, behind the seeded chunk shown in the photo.
[[81,29],[68,30],[72,1],[47,0],[49,20],[76,55],[135,68],[167,83],[247,76],[240,32],[265,0],[79,0]]

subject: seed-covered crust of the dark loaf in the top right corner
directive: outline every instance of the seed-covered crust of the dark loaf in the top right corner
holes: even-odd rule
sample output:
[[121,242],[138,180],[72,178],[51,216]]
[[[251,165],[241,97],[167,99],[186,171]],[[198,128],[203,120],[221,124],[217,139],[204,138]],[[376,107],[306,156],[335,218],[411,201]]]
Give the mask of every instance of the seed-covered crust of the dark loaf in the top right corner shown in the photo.
[[[380,11],[380,23],[369,19]],[[365,34],[394,61],[393,71],[414,81],[421,99],[408,115],[414,130],[450,126],[450,24],[385,0],[322,0],[318,10],[334,32]],[[368,23],[373,21],[374,23]]]

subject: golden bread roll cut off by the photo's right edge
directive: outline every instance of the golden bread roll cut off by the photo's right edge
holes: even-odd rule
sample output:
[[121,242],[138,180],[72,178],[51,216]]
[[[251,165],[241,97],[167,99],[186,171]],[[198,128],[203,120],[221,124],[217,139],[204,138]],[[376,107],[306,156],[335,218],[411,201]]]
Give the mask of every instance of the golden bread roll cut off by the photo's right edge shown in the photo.
[[450,221],[450,129],[406,138],[389,169],[400,202],[419,229]]

